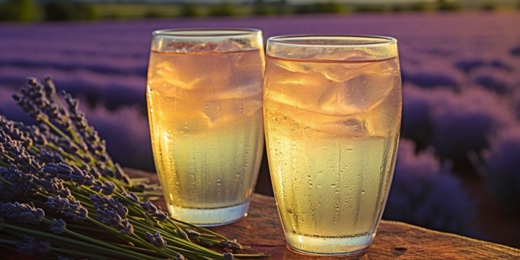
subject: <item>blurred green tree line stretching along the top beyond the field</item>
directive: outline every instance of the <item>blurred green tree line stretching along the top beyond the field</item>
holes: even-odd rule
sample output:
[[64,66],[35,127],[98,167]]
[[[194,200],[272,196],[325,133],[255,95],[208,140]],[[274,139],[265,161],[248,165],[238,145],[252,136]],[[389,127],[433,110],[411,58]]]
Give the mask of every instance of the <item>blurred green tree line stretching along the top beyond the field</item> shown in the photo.
[[[336,2],[335,2],[336,1]],[[72,0],[0,0],[0,20],[8,21],[65,21],[97,19],[135,19],[158,17],[205,17],[238,15],[287,15],[287,14],[340,14],[345,12],[402,12],[402,11],[454,11],[463,7],[480,10],[496,10],[497,4],[488,0],[484,5],[463,6],[460,0],[417,1],[411,3],[381,3],[346,5],[339,0],[313,4],[289,4],[286,0],[254,0],[241,4],[231,2],[193,4],[188,1],[177,4],[94,3]],[[297,3],[297,2],[293,2]],[[520,0],[518,0],[520,9]]]

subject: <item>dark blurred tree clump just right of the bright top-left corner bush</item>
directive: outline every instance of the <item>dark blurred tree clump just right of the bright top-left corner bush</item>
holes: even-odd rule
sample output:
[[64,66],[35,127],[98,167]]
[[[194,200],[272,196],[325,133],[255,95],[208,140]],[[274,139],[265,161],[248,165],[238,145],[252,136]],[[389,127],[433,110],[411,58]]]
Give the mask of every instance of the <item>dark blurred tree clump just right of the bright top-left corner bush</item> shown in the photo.
[[64,0],[50,1],[44,5],[45,18],[49,21],[96,20],[98,11],[93,4]]

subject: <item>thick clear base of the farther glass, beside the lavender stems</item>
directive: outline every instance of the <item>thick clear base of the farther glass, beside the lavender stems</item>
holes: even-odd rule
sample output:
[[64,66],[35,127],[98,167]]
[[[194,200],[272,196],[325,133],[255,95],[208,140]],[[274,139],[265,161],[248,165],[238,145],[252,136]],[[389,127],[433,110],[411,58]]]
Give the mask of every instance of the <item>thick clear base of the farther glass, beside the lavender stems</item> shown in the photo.
[[196,209],[190,207],[170,206],[173,217],[202,227],[221,226],[237,222],[247,215],[249,200],[234,206],[216,209]]

